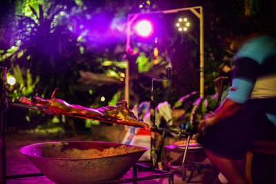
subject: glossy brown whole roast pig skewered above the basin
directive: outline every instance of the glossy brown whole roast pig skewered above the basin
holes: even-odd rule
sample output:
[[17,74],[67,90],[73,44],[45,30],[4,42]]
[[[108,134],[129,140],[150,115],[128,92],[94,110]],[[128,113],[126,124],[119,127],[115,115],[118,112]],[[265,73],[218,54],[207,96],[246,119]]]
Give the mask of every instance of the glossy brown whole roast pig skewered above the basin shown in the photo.
[[135,114],[128,109],[128,104],[125,100],[117,102],[116,105],[108,105],[101,108],[85,108],[81,105],[67,103],[61,99],[55,99],[55,92],[52,93],[51,99],[41,99],[39,96],[33,96],[32,100],[21,96],[19,102],[46,109],[49,114],[66,114],[77,116],[85,119],[95,119],[106,123],[118,123],[131,125],[136,127],[144,127],[151,130],[152,126],[144,121],[137,119]]

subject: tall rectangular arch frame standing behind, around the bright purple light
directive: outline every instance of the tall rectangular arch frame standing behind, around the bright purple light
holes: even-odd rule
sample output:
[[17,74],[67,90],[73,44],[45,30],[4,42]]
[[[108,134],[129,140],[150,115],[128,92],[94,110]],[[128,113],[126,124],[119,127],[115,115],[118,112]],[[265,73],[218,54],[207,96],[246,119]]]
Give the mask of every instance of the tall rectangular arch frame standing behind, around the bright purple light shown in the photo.
[[[194,6],[189,8],[179,8],[173,10],[163,10],[163,11],[156,11],[156,12],[142,12],[136,14],[128,14],[128,22],[126,24],[126,51],[130,50],[130,32],[131,32],[131,25],[142,14],[168,14],[168,13],[176,13],[181,11],[190,10],[195,14],[197,18],[199,18],[199,60],[200,60],[200,96],[204,96],[204,23],[203,23],[203,8],[202,6]],[[199,12],[197,11],[199,10]],[[128,61],[127,68],[126,68],[126,80],[125,80],[125,99],[129,102],[129,68],[128,68]]]

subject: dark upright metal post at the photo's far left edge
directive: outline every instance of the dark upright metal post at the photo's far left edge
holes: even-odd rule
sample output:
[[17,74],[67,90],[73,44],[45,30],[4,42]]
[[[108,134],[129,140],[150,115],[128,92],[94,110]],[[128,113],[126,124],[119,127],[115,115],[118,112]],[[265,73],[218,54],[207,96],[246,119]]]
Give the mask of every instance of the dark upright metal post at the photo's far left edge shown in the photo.
[[0,67],[0,183],[6,183],[6,75],[7,68]]

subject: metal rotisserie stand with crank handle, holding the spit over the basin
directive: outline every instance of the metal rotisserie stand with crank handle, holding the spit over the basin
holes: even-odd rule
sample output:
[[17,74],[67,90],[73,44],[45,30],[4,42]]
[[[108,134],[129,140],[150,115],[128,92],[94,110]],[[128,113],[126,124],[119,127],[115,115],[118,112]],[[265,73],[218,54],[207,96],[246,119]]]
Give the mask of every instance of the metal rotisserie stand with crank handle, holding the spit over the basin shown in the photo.
[[[0,134],[0,148],[1,148],[1,167],[0,167],[0,171],[1,171],[1,175],[0,175],[0,179],[1,179],[1,183],[6,183],[6,179],[11,179],[11,178],[26,178],[26,177],[32,177],[32,176],[43,176],[42,173],[33,173],[33,174],[19,174],[19,175],[14,175],[14,176],[6,176],[6,110],[8,107],[8,101],[7,101],[7,96],[6,96],[6,68],[1,68],[0,67],[0,74],[1,74],[1,80],[3,81],[3,84],[1,85],[1,89],[0,89],[0,102],[1,102],[1,134]],[[141,178],[137,178],[137,166],[133,166],[133,178],[127,178],[127,179],[122,179],[119,181],[112,181],[113,183],[128,183],[130,181],[133,181],[133,183],[137,183],[137,181],[144,181],[144,180],[151,180],[151,179],[155,179],[155,178],[166,178],[168,177],[168,181],[169,183],[173,183],[173,173],[172,172],[167,172],[164,170],[157,170],[155,168],[155,163],[156,163],[156,156],[155,156],[155,134],[156,131],[161,130],[161,131],[165,131],[165,132],[175,132],[179,135],[181,134],[185,134],[185,131],[182,132],[181,130],[177,131],[177,130],[166,130],[166,129],[162,129],[162,128],[157,128],[155,125],[155,108],[156,108],[156,102],[155,102],[155,95],[154,95],[154,82],[155,81],[170,81],[170,68],[167,69],[167,74],[168,74],[168,79],[152,79],[152,89],[151,89],[151,95],[150,95],[150,99],[151,99],[151,103],[150,103],[150,121],[154,127],[154,129],[151,132],[151,138],[150,138],[150,167],[146,166],[146,165],[141,165],[141,164],[137,164],[139,165],[139,167],[146,167],[147,170],[151,170],[152,172],[157,172],[159,174],[155,174],[152,176],[146,176],[146,177],[141,177]],[[30,108],[30,107],[25,107],[25,106],[20,106],[19,108]],[[39,110],[39,109],[37,109]],[[188,141],[187,144],[189,142],[189,137],[188,136]],[[188,145],[186,145],[186,148],[188,148]],[[187,149],[186,149],[187,150]],[[185,157],[186,157],[186,150],[184,153],[184,161],[185,161]],[[183,162],[184,162],[183,161]],[[110,181],[111,182],[111,181]],[[101,182],[101,183],[106,183],[106,181]]]

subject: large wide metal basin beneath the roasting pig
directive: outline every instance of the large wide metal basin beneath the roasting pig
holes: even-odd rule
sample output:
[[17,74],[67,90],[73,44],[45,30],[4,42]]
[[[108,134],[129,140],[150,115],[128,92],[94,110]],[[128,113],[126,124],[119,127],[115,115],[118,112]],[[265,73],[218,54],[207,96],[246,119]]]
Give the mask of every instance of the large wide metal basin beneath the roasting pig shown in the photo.
[[147,147],[95,141],[27,145],[20,152],[56,183],[95,183],[119,179]]

